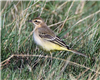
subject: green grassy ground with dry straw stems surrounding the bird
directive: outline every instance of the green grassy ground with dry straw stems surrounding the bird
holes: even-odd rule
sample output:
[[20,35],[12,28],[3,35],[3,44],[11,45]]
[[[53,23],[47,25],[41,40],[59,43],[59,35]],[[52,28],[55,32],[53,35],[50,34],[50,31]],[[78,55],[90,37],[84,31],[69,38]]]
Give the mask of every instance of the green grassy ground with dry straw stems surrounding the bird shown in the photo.
[[[99,0],[1,0],[0,11],[0,80],[99,80]],[[51,59],[34,43],[34,26],[27,22],[38,16],[88,58],[54,51]],[[12,54],[17,56],[1,64]]]

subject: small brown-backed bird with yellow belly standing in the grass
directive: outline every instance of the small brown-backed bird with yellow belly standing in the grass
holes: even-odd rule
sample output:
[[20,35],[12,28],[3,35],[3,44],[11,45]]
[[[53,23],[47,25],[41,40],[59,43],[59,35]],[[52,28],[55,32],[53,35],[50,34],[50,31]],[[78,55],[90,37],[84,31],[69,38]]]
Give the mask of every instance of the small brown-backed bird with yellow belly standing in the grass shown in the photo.
[[46,51],[65,50],[87,57],[85,54],[70,49],[59,37],[55,35],[42,18],[37,17],[29,22],[32,22],[35,25],[33,32],[34,41]]

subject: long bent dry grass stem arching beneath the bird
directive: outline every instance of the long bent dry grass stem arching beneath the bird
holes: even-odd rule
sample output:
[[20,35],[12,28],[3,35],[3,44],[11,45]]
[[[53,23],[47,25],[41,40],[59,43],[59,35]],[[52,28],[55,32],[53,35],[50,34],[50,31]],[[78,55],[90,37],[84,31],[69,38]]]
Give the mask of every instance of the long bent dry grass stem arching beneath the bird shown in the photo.
[[[62,59],[62,58],[57,58],[57,57],[51,57],[51,56],[44,56],[44,55],[27,55],[27,54],[12,54],[9,58],[7,58],[6,60],[0,62],[0,66],[2,66],[2,64],[4,64],[6,61],[10,60],[11,58],[13,57],[41,57],[41,58],[52,58],[52,59],[56,59],[56,60],[60,60],[60,61],[64,61],[64,62],[67,62],[71,65],[74,65],[74,66],[78,66],[78,67],[81,67],[81,68],[85,68],[87,70],[91,70],[92,72],[95,72],[97,74],[100,74],[100,72],[98,71],[95,71],[89,67],[86,67],[84,65],[80,65],[76,62],[72,62],[72,61],[69,61],[69,60],[66,60],[66,59]],[[65,65],[66,66],[66,65]]]

